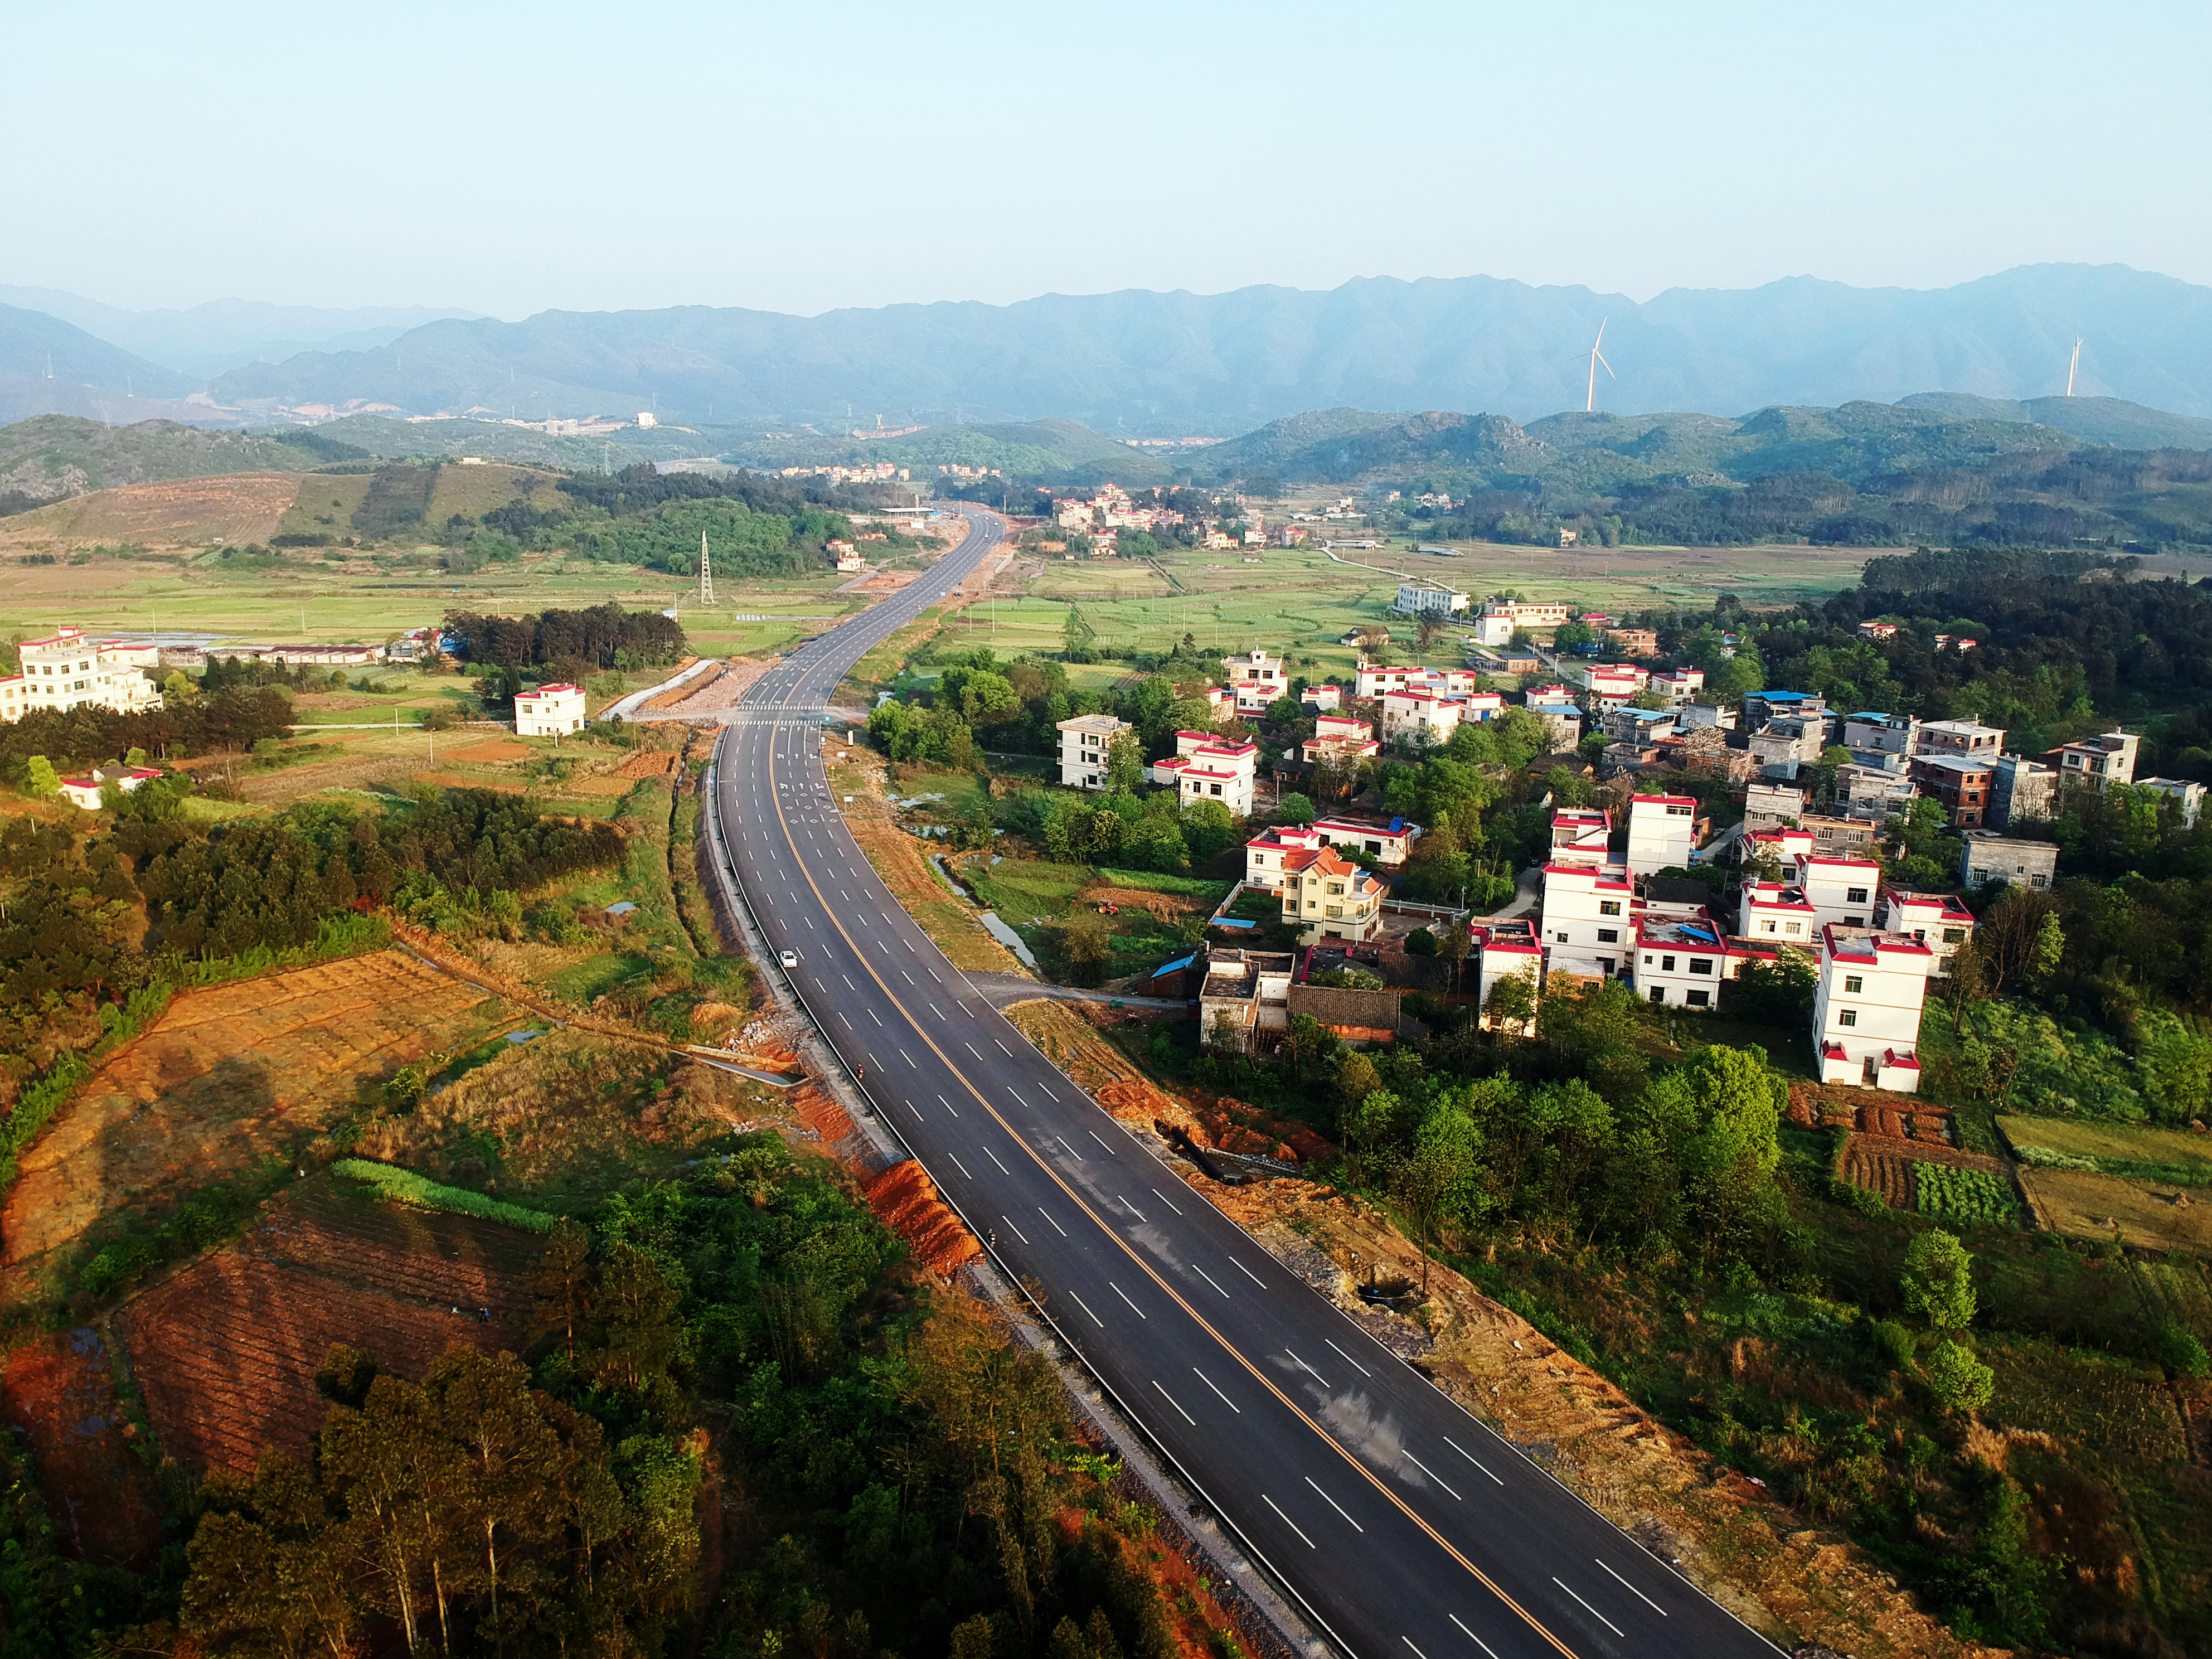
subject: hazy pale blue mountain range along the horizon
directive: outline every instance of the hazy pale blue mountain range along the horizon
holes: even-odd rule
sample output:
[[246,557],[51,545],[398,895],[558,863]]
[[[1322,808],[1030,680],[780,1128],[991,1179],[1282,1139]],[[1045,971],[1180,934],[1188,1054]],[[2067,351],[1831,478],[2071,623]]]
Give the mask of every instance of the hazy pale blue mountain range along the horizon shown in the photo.
[[[27,290],[0,290],[0,301],[11,294]],[[0,414],[38,414],[42,398],[93,414],[82,407],[88,396],[126,392],[124,376],[144,396],[146,374],[157,396],[204,392],[195,416],[204,420],[349,403],[540,420],[653,409],[688,425],[812,422],[823,434],[876,416],[889,425],[1060,416],[1106,434],[1234,436],[1345,405],[1528,420],[1582,407],[1588,345],[1604,323],[1619,378],[1599,372],[1597,403],[1621,414],[1739,416],[1927,392],[2017,403],[2064,392],[2073,343],[2086,338],[2081,392],[2212,416],[2212,288],[2124,265],[2024,265],[1944,290],[1798,276],[1754,290],[1670,290],[1641,305],[1586,288],[1460,276],[1358,279],[1327,292],[1048,294],[812,319],[717,307],[542,312],[520,323],[449,316],[367,345],[338,330],[316,349],[272,347],[265,356],[276,361],[204,372],[197,383],[186,365],[215,365],[226,352],[234,363],[254,330],[276,341],[310,323],[358,334],[403,319],[106,310],[75,303],[69,321],[49,310],[38,325],[0,316],[9,323]],[[82,365],[71,374],[84,389],[60,385],[62,356],[55,380],[44,380],[55,341]],[[102,343],[131,361],[102,358]]]

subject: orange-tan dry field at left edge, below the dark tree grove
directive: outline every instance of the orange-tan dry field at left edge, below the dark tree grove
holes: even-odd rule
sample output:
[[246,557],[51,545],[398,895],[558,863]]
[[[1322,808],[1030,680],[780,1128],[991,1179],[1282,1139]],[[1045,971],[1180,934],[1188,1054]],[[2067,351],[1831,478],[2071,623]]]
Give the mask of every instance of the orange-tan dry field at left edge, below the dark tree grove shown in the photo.
[[22,1155],[11,1270],[122,1206],[173,1201],[321,1130],[363,1084],[476,1042],[498,1004],[400,951],[186,991]]

